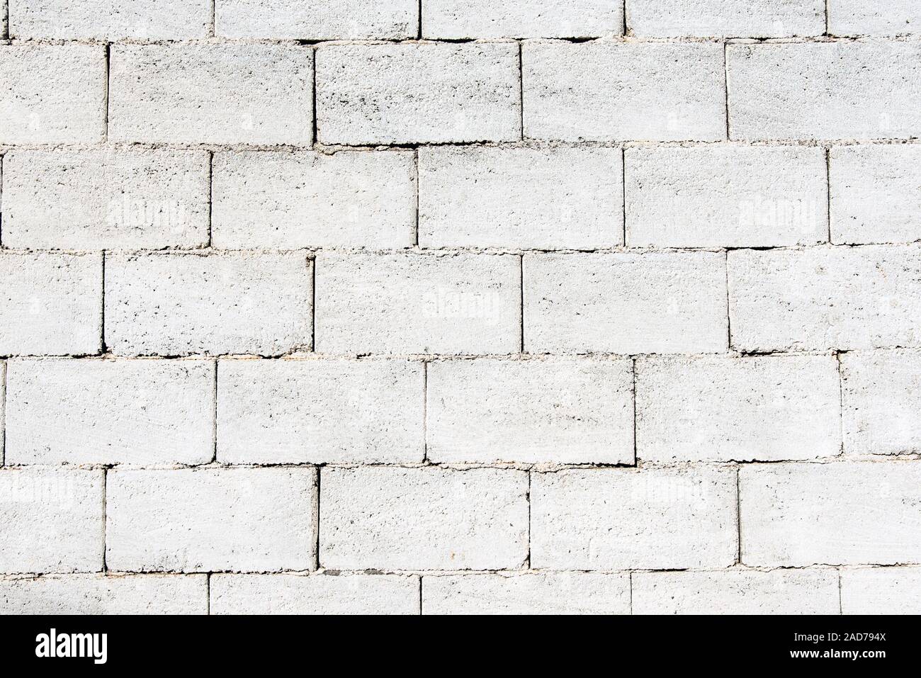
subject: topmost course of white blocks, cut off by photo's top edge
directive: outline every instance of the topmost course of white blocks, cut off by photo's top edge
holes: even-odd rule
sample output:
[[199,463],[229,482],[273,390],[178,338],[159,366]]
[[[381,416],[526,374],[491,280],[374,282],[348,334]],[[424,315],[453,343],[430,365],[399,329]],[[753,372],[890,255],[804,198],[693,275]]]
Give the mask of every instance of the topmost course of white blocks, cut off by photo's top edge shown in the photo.
[[[827,19],[826,19],[827,5]],[[912,0],[9,0],[15,38],[147,40],[226,38],[402,40],[424,38],[586,38],[899,35],[917,33]],[[624,18],[624,7],[626,17]]]

